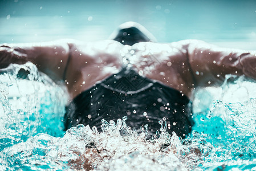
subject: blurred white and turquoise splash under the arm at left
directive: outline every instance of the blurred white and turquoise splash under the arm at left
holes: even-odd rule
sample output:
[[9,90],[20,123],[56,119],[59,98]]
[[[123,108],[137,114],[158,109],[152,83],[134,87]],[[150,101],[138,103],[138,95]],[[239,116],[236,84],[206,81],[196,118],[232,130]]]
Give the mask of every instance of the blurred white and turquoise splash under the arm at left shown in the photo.
[[58,127],[67,95],[34,64],[1,70],[0,92],[0,150],[42,132],[63,136]]

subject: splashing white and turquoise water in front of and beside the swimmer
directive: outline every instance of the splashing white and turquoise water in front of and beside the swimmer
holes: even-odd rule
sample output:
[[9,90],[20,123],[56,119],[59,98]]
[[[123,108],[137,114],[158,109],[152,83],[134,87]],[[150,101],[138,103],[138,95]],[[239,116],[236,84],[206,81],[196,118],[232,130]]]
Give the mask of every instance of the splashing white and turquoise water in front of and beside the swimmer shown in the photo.
[[[21,68],[30,71],[25,79],[17,78]],[[242,76],[196,89],[196,125],[186,139],[159,131],[145,140],[147,128],[137,133],[125,118],[103,121],[103,133],[84,125],[62,131],[66,90],[31,63],[7,70],[0,75],[0,170],[256,170],[256,83]]]

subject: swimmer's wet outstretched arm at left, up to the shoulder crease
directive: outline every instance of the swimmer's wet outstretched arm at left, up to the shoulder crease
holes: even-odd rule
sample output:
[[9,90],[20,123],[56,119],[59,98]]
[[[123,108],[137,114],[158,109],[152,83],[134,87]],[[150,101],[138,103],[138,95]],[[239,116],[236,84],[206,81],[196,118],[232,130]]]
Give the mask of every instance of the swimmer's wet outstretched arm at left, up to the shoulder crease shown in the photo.
[[62,80],[72,44],[66,42],[0,44],[0,68],[30,61],[53,80]]

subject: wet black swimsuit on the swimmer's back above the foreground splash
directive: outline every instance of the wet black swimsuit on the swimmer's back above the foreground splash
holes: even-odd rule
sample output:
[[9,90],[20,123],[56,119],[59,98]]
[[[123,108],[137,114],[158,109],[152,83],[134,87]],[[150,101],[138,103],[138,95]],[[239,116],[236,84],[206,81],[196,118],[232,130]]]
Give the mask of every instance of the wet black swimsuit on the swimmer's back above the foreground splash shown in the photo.
[[148,124],[151,134],[160,129],[159,120],[166,118],[167,131],[185,137],[194,124],[188,97],[176,89],[140,76],[132,68],[124,67],[94,87],[80,93],[67,106],[65,128],[78,124],[96,126],[101,119],[114,120],[127,116],[129,127],[139,129]]

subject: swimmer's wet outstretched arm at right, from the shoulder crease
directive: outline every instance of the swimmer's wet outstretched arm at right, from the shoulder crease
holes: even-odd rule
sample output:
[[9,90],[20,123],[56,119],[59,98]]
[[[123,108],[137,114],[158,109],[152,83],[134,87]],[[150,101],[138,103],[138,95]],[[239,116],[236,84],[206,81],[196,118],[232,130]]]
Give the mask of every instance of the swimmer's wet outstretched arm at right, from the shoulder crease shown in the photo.
[[256,51],[220,48],[200,40],[187,40],[189,63],[197,86],[220,86],[225,75],[256,79]]

